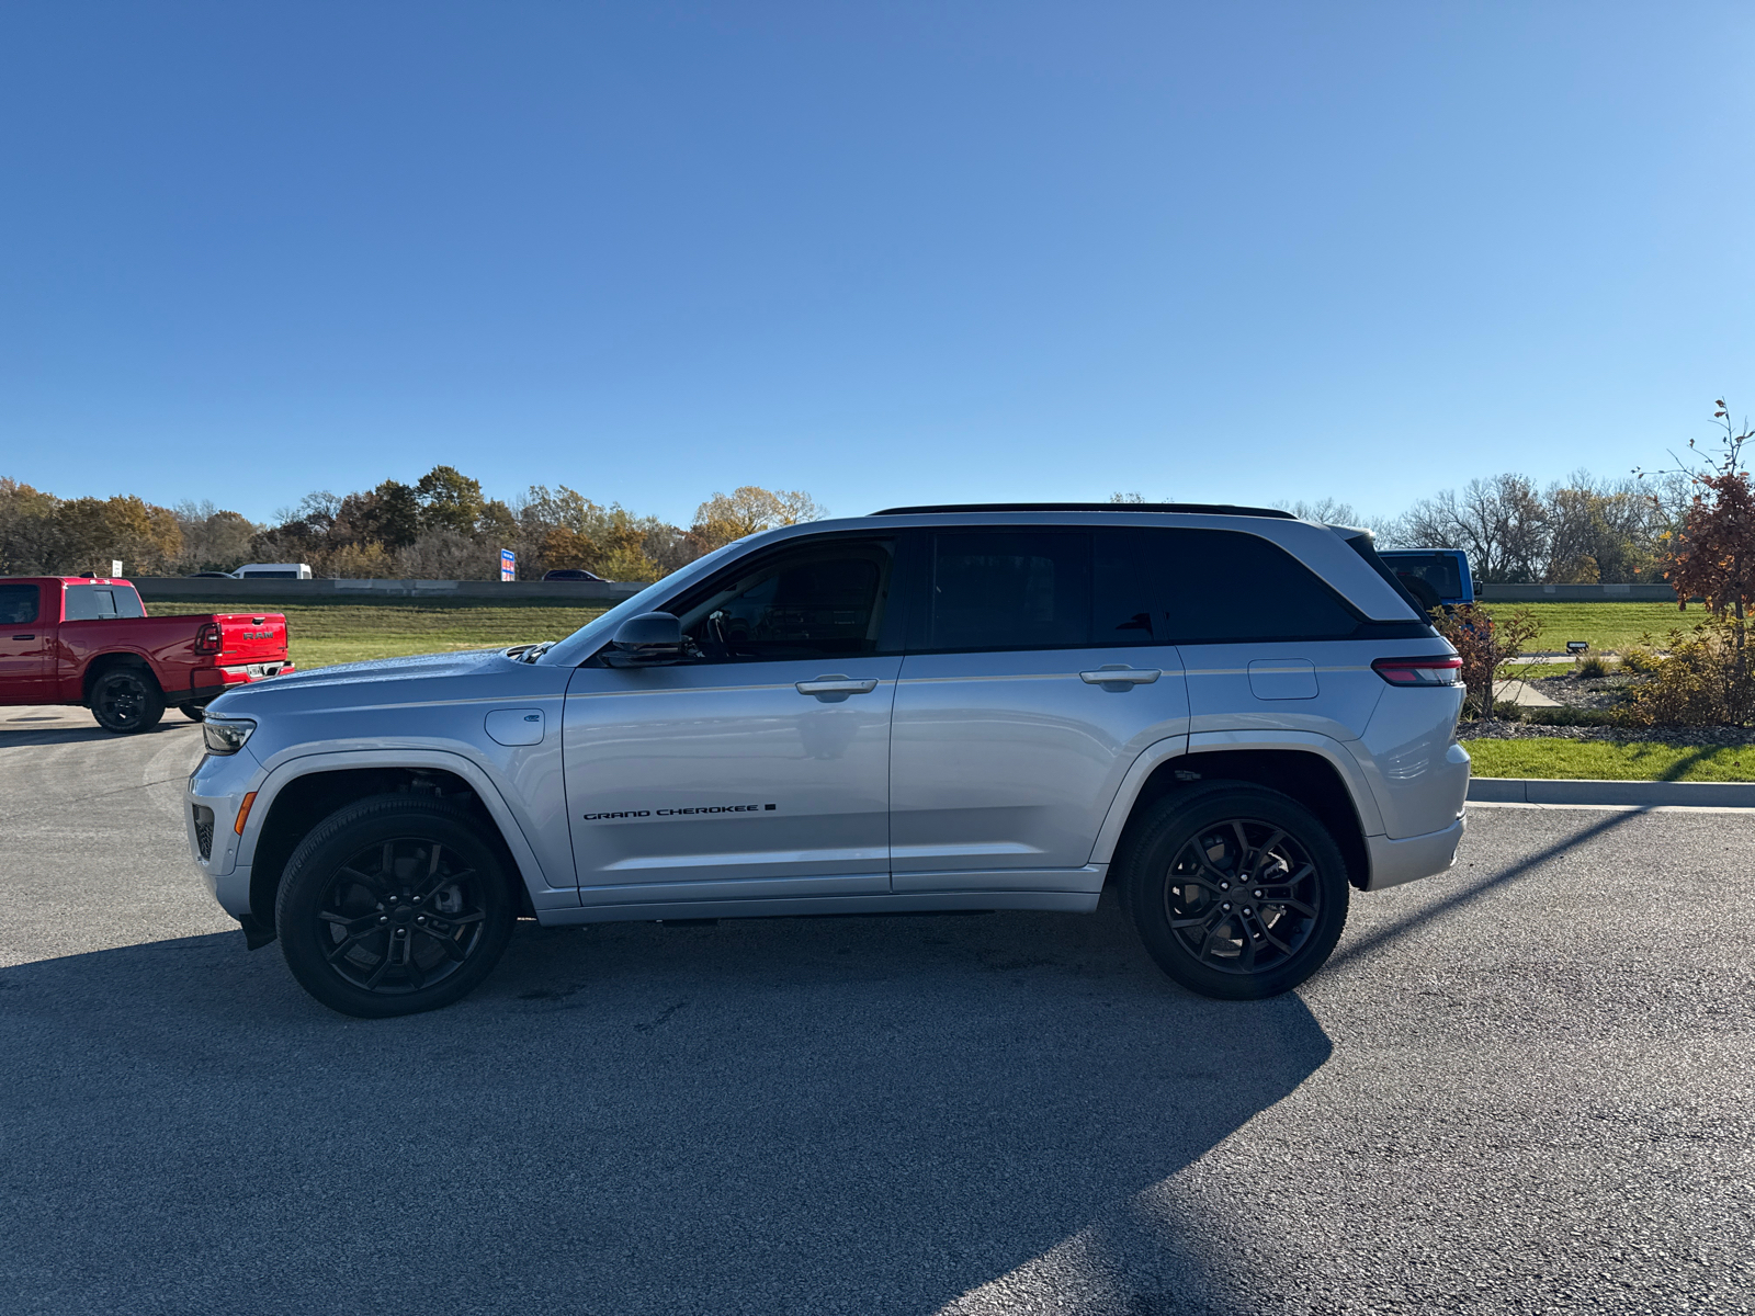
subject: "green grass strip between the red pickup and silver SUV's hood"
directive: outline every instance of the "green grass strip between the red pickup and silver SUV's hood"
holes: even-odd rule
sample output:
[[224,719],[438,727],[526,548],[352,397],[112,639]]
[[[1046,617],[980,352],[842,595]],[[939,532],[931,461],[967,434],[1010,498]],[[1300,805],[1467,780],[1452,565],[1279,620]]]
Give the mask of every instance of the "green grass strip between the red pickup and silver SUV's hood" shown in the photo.
[[[147,604],[153,616],[177,612],[249,612],[235,600],[223,604]],[[486,649],[526,640],[558,640],[604,612],[530,602],[516,607],[458,607],[444,600],[409,598],[397,604],[263,604],[261,612],[284,612],[288,649],[298,669],[356,663],[365,658],[404,658],[414,653]]]

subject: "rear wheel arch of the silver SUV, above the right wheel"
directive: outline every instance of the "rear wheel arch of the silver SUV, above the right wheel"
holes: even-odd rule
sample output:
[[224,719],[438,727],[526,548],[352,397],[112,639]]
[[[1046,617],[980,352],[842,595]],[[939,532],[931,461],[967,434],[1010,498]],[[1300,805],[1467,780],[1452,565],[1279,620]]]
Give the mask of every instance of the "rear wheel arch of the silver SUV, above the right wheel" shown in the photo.
[[1207,733],[1153,746],[1123,783],[1092,860],[1111,862],[1123,849],[1128,830],[1165,795],[1206,781],[1244,781],[1288,795],[1316,814],[1346,860],[1348,883],[1367,890],[1371,849],[1365,837],[1383,830],[1381,819],[1365,783],[1350,781],[1357,767],[1341,758],[1339,744],[1329,742],[1332,749],[1316,744],[1323,740],[1329,737],[1248,740]]

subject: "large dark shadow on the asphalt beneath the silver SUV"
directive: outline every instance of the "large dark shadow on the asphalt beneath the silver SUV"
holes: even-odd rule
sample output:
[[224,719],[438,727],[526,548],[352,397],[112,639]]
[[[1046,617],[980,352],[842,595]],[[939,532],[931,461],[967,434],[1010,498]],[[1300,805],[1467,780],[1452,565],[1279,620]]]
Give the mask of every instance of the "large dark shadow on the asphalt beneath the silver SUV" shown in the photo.
[[1150,1291],[1078,1309],[1223,1311],[1130,1200],[1330,1051],[1295,995],[1171,984],[1109,902],[526,923],[374,1023],[191,937],[4,970],[0,1032],[0,1277],[86,1311],[932,1312],[1130,1216]]

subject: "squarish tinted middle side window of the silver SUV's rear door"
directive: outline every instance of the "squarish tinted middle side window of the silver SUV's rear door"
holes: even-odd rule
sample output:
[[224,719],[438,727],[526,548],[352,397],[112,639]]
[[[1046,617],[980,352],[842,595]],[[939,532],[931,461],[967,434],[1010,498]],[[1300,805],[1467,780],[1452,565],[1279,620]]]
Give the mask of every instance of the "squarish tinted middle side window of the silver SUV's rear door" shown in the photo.
[[1090,642],[1086,533],[981,530],[932,537],[928,649],[1046,649]]

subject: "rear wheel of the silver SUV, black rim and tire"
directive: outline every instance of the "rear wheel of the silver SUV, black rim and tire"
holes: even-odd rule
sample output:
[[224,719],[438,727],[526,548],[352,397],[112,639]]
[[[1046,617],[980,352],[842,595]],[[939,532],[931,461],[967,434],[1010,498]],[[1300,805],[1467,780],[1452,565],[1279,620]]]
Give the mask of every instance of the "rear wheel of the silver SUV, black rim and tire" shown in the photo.
[[[1239,869],[1255,881],[1239,883]],[[1158,969],[1202,997],[1290,991],[1323,967],[1346,926],[1339,846],[1309,809],[1265,786],[1214,781],[1158,800],[1128,840],[1120,879]]]

